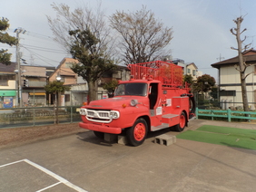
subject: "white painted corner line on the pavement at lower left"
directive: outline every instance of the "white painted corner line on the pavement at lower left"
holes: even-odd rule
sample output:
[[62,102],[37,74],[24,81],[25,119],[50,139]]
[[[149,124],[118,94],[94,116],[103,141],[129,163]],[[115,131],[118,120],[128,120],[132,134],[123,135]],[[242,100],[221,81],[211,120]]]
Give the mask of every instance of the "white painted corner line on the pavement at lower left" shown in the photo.
[[[39,166],[38,164],[28,160],[28,159],[23,159],[23,160],[18,160],[18,161],[15,161],[13,163],[8,163],[8,164],[5,164],[5,165],[2,165],[0,166],[0,168],[4,168],[5,166],[10,166],[10,165],[13,165],[15,163],[20,163],[20,162],[23,162],[25,161],[27,164],[33,166],[34,168],[38,168],[40,170],[42,170],[44,173],[48,174],[49,176],[53,177],[53,178],[56,178],[57,180],[59,180],[61,183],[64,183],[64,185],[66,185],[67,187],[71,187],[73,188],[74,190],[78,191],[78,192],[88,192],[86,190],[84,190],[83,188],[81,187],[78,187],[78,186],[75,186],[74,184],[70,183],[68,180],[56,175],[54,172],[42,167],[42,166]],[[59,183],[57,183],[59,184]],[[42,190],[42,189],[41,189]]]

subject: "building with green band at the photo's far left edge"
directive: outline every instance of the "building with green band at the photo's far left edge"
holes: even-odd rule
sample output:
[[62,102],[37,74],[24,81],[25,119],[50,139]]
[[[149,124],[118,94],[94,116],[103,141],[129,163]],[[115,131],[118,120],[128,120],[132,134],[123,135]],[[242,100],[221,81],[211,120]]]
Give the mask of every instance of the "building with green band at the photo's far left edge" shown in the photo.
[[13,108],[18,105],[15,68],[15,62],[10,65],[0,62],[0,108]]

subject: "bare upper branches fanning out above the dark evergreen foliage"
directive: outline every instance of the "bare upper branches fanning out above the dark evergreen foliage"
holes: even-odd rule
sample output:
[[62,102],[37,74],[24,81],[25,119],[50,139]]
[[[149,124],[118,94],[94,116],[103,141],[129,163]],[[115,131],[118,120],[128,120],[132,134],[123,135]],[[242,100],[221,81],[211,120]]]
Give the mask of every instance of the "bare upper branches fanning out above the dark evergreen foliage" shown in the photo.
[[60,43],[68,53],[74,42],[74,37],[69,35],[69,32],[89,29],[99,40],[97,53],[106,52],[113,56],[114,41],[111,36],[111,29],[105,23],[105,15],[101,5],[98,5],[95,11],[85,5],[75,8],[74,11],[71,11],[70,7],[65,4],[53,4],[52,7],[56,12],[56,18],[47,16],[48,24],[54,34],[54,41]]

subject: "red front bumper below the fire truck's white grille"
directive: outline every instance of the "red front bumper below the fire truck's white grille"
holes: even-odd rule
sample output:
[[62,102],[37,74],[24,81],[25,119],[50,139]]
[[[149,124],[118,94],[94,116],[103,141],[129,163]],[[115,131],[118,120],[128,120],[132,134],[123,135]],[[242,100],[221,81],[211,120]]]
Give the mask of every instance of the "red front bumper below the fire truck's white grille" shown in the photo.
[[98,125],[93,123],[80,122],[79,127],[84,128],[86,130],[95,130],[95,131],[112,133],[112,134],[120,134],[122,132],[121,128],[113,128],[113,127],[108,127],[108,126]]

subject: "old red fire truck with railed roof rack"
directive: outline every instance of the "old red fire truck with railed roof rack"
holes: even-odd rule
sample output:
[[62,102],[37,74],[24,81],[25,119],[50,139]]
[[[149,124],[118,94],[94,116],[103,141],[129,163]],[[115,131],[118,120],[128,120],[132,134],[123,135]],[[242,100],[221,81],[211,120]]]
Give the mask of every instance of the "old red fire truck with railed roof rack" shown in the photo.
[[195,102],[182,67],[171,62],[143,62],[128,65],[129,81],[120,81],[113,98],[91,101],[80,109],[81,128],[125,134],[133,146],[143,144],[149,131],[174,126],[182,131],[194,116]]

